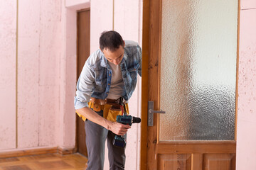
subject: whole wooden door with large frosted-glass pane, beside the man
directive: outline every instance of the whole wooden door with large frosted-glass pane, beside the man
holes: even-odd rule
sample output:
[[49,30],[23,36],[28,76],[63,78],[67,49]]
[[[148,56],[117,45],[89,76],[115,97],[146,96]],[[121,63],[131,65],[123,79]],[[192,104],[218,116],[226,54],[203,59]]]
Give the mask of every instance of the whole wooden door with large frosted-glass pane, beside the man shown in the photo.
[[143,10],[142,169],[235,170],[238,1]]

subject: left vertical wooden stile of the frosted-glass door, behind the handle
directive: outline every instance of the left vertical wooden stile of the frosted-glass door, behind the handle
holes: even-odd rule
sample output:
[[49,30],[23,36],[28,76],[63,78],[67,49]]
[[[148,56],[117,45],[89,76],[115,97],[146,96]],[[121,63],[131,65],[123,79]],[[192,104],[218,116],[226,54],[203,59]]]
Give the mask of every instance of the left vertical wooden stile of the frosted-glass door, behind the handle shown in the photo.
[[[153,127],[147,126],[147,107],[146,101],[159,101],[159,91],[148,93],[149,86],[159,89],[159,79],[152,81],[149,75],[157,75],[159,78],[159,1],[143,1],[143,30],[142,30],[142,136],[141,136],[141,169],[147,169],[151,164],[149,154],[154,155],[157,143],[156,114],[154,114]],[[154,57],[158,56],[158,57]],[[158,102],[154,102],[154,109],[159,109]],[[149,131],[152,131],[149,133]],[[146,145],[145,145],[146,144]],[[153,145],[152,149],[149,149]]]

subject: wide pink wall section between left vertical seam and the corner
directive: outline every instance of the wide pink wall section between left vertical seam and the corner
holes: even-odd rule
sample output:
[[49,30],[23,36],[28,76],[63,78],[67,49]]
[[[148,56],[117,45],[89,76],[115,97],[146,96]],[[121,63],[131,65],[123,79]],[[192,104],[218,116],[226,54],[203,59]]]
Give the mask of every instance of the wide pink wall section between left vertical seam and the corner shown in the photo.
[[60,5],[18,4],[18,148],[56,145]]

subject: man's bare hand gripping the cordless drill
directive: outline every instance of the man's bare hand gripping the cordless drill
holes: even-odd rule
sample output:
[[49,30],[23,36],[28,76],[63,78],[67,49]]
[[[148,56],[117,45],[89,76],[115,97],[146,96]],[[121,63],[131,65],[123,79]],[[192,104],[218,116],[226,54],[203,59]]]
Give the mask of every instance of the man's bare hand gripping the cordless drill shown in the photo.
[[117,123],[117,122],[109,121],[107,124],[108,124],[107,130],[111,130],[114,134],[117,134],[117,135],[125,135],[128,129],[131,128],[130,125],[124,125],[122,123]]

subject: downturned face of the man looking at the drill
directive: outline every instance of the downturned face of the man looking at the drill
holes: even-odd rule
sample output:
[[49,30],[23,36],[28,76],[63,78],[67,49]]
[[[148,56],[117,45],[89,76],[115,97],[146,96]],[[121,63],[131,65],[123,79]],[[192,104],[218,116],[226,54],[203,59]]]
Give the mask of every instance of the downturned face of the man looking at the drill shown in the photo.
[[120,64],[122,58],[124,57],[124,47],[122,47],[122,45],[119,45],[119,48],[114,52],[110,51],[107,48],[104,48],[102,52],[105,55],[107,61],[112,62],[115,65]]

